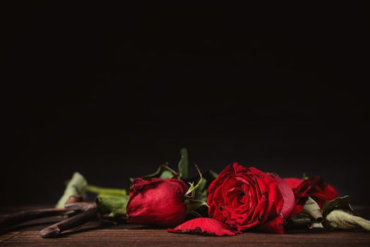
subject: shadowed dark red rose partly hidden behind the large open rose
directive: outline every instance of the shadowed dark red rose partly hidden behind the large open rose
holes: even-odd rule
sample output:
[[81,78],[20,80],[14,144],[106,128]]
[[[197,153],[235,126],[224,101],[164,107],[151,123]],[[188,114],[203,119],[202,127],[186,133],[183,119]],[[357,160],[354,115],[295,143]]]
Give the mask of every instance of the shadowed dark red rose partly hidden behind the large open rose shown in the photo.
[[292,188],[295,195],[296,206],[293,215],[302,212],[303,204],[308,197],[314,199],[321,209],[328,200],[338,198],[338,192],[335,191],[335,188],[323,181],[321,177],[306,180],[288,178],[284,181]]

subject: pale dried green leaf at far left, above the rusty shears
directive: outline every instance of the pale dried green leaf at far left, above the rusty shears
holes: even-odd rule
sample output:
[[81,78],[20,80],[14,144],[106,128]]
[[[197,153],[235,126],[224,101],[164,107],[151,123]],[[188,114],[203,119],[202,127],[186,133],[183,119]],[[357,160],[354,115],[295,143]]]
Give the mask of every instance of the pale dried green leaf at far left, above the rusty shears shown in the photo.
[[58,200],[56,207],[64,207],[64,204],[71,195],[82,195],[86,196],[86,179],[78,172],[75,172],[72,179],[68,181],[66,190],[64,191],[61,199]]

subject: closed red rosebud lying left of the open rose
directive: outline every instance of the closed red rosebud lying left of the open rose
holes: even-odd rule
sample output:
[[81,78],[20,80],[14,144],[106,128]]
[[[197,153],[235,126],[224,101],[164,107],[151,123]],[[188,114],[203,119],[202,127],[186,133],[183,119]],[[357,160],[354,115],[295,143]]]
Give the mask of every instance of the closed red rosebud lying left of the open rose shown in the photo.
[[185,220],[187,185],[180,179],[135,179],[126,207],[128,222],[175,227]]

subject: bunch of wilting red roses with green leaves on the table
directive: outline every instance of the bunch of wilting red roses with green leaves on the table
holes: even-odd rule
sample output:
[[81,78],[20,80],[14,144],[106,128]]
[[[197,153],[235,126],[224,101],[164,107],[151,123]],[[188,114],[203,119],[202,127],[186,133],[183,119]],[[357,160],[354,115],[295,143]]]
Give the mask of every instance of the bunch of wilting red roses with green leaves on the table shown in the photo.
[[[83,198],[86,192],[96,193],[97,215],[116,222],[164,227],[176,234],[283,234],[286,229],[302,227],[370,231],[368,220],[354,216],[349,197],[338,197],[335,188],[320,177],[282,179],[233,163],[220,174],[202,174],[195,165],[199,176],[189,178],[187,150],[182,149],[180,154],[178,171],[168,164],[161,165],[154,174],[130,179],[129,193],[91,186],[76,172],[56,207],[63,209],[71,196]],[[43,230],[42,236],[60,234],[58,226]]]

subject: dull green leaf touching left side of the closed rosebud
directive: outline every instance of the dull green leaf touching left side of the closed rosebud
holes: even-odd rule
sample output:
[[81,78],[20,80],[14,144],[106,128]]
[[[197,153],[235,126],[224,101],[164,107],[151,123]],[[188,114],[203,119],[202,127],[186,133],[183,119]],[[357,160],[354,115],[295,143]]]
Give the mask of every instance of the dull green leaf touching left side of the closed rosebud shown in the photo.
[[98,197],[95,202],[97,203],[97,207],[101,215],[109,215],[109,217],[125,217],[128,195]]

